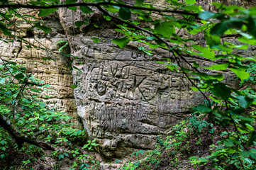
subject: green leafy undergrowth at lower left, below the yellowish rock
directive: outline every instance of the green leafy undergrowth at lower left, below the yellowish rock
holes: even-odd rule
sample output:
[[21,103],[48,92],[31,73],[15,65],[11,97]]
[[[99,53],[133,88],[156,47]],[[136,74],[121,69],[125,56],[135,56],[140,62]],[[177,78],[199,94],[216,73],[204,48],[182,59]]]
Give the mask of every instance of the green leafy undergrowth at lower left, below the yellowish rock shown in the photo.
[[[97,169],[99,162],[86,153],[98,145],[96,140],[87,140],[85,130],[72,128],[71,117],[40,101],[43,88],[47,89],[48,85],[28,74],[24,67],[13,62],[0,65],[0,113],[9,120],[14,119],[10,123],[21,134],[55,148],[45,152],[38,146],[17,145],[13,136],[0,128],[0,169],[33,169],[31,165],[45,157],[56,160],[52,168],[58,169],[62,160],[72,159],[74,164],[70,169]],[[18,153],[23,155],[19,162],[10,162]]]

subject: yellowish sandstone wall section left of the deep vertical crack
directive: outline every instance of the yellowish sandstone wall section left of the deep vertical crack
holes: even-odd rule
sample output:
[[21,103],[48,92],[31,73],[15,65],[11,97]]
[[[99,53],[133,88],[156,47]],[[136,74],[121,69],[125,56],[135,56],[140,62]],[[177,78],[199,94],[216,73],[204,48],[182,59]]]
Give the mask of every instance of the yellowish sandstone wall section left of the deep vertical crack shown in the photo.
[[[30,13],[37,16],[38,11],[22,9],[17,13]],[[31,28],[22,18],[12,18],[17,27],[12,27],[13,35],[20,36],[27,42],[21,42],[18,38],[13,38],[13,42],[0,41],[1,58],[6,61],[16,62],[26,65],[28,72],[33,76],[45,81],[50,87],[43,91],[42,100],[56,111],[66,112],[77,122],[77,110],[74,101],[74,92],[70,87],[73,82],[72,72],[67,67],[67,58],[59,55],[56,43],[59,40],[67,40],[65,32],[57,16],[44,18],[52,28],[52,32],[45,34],[41,30]],[[26,18],[31,20],[31,18]],[[45,23],[45,21],[43,21]],[[1,35],[3,37],[3,35]],[[29,48],[28,45],[36,45],[37,48]],[[46,50],[43,50],[45,48]],[[52,60],[43,60],[45,57],[52,57]],[[49,96],[49,97],[45,97]]]

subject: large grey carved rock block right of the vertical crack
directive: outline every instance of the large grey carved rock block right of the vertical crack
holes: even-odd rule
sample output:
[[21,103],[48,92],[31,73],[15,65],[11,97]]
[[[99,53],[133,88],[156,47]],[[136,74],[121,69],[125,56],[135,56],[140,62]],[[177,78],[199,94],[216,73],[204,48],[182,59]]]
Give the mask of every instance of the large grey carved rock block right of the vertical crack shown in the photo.
[[[69,9],[59,13],[71,54],[78,57],[73,65],[81,70],[72,72],[78,86],[74,89],[77,113],[106,156],[120,158],[134,149],[153,149],[158,134],[166,134],[190,108],[204,103],[205,98],[190,89],[183,74],[156,63],[171,57],[169,52],[154,50],[149,56],[138,50],[138,42],[118,48],[111,40],[122,35],[97,11],[87,16]],[[91,24],[76,28],[74,22],[84,18]],[[94,23],[103,29],[95,28]],[[104,41],[94,43],[94,36]],[[206,67],[215,64],[200,57],[187,60]],[[223,74],[227,84],[238,85],[231,74]]]

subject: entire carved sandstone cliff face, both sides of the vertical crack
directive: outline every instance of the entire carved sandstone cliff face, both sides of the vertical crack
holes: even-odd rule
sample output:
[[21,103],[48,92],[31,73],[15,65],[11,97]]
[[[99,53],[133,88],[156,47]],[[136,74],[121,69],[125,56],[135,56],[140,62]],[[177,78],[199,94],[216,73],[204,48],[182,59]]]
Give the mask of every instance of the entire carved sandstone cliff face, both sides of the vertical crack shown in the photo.
[[[206,10],[213,9],[208,2],[198,1]],[[156,5],[161,3],[157,1]],[[21,12],[36,15],[36,11]],[[84,18],[90,24],[76,28],[74,22]],[[20,30],[21,37],[48,50],[30,49],[26,47],[28,44],[14,40],[12,44],[1,42],[1,56],[27,64],[30,72],[50,84],[50,90],[45,92],[50,98],[43,100],[73,117],[78,114],[89,137],[99,141],[107,156],[123,157],[133,149],[152,149],[159,133],[167,134],[168,128],[184,118],[191,107],[205,100],[201,94],[191,91],[191,83],[183,74],[156,63],[170,57],[169,52],[154,50],[154,55],[149,56],[138,50],[140,44],[136,42],[129,43],[123,50],[113,44],[111,40],[122,35],[115,31],[115,24],[105,21],[97,11],[84,15],[81,11],[60,8],[43,21],[52,27],[52,32],[45,35],[35,31],[31,37],[26,32],[30,26],[16,22],[25,30]],[[104,28],[95,28],[94,23]],[[94,36],[104,41],[94,43],[91,40]],[[200,36],[197,37],[200,40]],[[70,54],[78,57],[73,66],[81,72],[69,71],[69,59],[57,52],[59,40],[69,41]],[[254,49],[251,47],[246,55],[254,55]],[[55,61],[42,60],[49,56],[54,56]],[[206,67],[214,64],[200,57],[187,60]],[[225,77],[227,84],[238,85],[228,72]],[[74,91],[72,84],[78,86]]]

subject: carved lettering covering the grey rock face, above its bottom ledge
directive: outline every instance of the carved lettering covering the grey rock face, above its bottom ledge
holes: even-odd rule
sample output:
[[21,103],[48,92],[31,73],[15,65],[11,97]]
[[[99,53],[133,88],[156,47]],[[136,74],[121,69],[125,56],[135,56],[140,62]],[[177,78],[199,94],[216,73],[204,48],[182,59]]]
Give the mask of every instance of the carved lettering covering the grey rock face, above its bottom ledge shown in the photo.
[[[115,48],[84,47],[77,52],[84,55],[79,57],[84,64],[77,65],[82,73],[73,72],[74,83],[79,85],[74,90],[78,113],[95,137],[114,140],[123,133],[157,135],[201,102],[194,101],[198,94],[191,91],[191,82],[182,74],[140,61],[146,59],[144,54],[119,49],[111,53],[109,49]],[[103,53],[99,56],[99,52]]]

